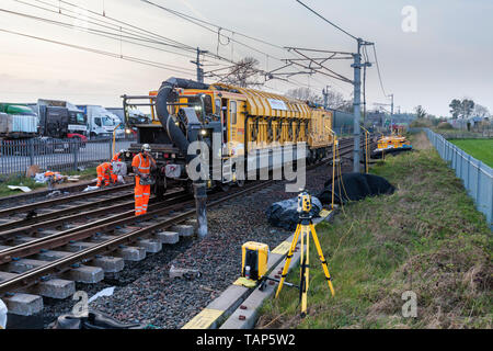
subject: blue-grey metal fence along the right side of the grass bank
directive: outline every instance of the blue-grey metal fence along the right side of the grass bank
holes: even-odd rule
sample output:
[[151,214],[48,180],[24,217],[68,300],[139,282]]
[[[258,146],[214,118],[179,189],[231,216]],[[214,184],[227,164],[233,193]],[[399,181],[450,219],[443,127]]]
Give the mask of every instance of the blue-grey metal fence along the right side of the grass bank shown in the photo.
[[442,135],[427,128],[425,132],[440,157],[449,162],[456,176],[462,180],[475,207],[486,216],[493,230],[493,169],[447,141]]

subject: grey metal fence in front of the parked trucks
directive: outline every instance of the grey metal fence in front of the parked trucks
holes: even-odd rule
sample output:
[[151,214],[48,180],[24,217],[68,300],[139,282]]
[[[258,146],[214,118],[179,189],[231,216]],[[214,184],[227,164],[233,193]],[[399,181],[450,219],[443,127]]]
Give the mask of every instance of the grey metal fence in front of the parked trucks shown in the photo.
[[[116,140],[115,150],[126,149],[133,140]],[[95,167],[102,161],[111,160],[113,140],[99,139],[81,141],[80,139],[19,139],[0,140],[0,174],[25,174],[32,165],[42,170],[73,171],[81,167]]]

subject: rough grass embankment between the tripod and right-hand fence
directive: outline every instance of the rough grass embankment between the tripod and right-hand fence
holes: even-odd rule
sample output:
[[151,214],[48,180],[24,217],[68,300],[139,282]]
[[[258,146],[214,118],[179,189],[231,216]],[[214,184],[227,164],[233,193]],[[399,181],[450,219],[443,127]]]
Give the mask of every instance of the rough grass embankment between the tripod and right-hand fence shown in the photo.
[[[285,286],[262,307],[257,328],[491,328],[492,236],[454,171],[421,133],[414,152],[388,157],[371,172],[398,189],[348,204],[317,226],[333,278],[310,249],[309,315]],[[287,281],[299,281],[295,268]],[[402,293],[417,296],[417,317],[402,316]]]

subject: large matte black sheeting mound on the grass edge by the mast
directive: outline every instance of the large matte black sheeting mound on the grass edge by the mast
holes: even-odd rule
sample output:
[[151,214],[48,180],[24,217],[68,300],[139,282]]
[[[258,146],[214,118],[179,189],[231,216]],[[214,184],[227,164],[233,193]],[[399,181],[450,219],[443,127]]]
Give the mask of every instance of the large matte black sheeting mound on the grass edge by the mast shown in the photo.
[[[346,173],[335,179],[334,203],[344,204],[348,201],[359,201],[367,196],[392,194],[394,191],[395,188],[383,177]],[[325,182],[324,190],[317,197],[324,205],[332,203],[332,180]]]

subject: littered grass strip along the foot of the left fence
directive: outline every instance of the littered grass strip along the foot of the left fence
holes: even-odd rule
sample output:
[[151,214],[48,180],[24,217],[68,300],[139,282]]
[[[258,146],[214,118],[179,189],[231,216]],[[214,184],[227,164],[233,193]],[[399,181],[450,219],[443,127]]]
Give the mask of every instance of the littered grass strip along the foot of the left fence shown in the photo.
[[[95,167],[88,168],[83,171],[68,171],[60,172],[64,176],[80,176],[80,181],[92,180],[96,177]],[[65,185],[76,185],[77,182],[73,183],[61,183],[56,185],[56,188],[62,188]],[[32,190],[43,190],[47,189],[47,184],[36,183],[33,178],[21,177],[21,176],[10,176],[10,177],[0,177],[0,197],[12,196],[15,194],[22,193],[20,190],[10,190],[8,185],[18,185],[18,186],[28,186]]]

